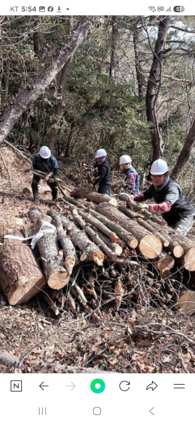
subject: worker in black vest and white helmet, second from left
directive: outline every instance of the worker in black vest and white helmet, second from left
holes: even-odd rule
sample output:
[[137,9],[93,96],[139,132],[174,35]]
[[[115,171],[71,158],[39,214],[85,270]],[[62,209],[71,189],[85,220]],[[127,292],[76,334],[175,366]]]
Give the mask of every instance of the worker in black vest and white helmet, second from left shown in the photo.
[[96,167],[98,169],[97,178],[93,182],[93,187],[99,184],[99,194],[111,195],[109,184],[112,182],[110,166],[106,160],[107,152],[100,148],[96,152]]

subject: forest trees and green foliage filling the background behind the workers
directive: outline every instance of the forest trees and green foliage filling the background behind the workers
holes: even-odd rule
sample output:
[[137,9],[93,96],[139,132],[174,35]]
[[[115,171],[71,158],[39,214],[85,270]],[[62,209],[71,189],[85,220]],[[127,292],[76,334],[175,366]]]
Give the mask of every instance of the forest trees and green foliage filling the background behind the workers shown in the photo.
[[194,16],[1,16],[0,31],[0,142],[194,164]]

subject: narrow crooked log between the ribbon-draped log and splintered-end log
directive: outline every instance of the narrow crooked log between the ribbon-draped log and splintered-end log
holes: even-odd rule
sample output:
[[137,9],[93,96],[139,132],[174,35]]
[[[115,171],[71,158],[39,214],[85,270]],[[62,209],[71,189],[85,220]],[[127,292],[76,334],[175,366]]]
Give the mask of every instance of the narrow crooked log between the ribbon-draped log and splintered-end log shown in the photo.
[[78,263],[78,257],[77,257],[77,253],[75,251],[74,245],[71,242],[71,239],[69,239],[66,236],[66,231],[64,231],[63,229],[60,214],[56,213],[53,210],[48,210],[47,214],[51,216],[55,222],[55,225],[58,231],[59,241],[64,252],[64,265],[69,275],[71,275],[75,262]]

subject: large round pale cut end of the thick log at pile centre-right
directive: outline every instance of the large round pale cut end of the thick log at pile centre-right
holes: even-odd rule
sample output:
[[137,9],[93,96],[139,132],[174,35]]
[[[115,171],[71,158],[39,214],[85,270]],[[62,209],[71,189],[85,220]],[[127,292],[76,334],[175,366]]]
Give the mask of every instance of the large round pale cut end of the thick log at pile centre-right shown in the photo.
[[139,250],[146,258],[156,258],[162,252],[162,242],[155,235],[146,235],[140,241]]

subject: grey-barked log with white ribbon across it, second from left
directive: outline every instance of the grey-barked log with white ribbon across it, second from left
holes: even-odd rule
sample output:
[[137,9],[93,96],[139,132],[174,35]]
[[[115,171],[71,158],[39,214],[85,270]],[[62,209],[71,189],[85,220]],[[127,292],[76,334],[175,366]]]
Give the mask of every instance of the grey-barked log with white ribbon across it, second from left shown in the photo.
[[[28,212],[30,221],[33,222],[33,234],[36,234],[43,223],[43,215],[38,208],[31,208]],[[63,257],[58,255],[59,246],[56,233],[44,233],[37,242],[41,255],[44,274],[50,288],[59,290],[69,282],[69,274],[64,267]]]

